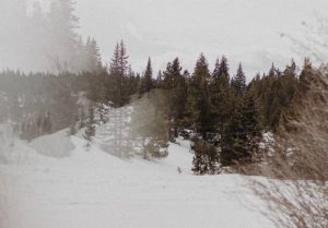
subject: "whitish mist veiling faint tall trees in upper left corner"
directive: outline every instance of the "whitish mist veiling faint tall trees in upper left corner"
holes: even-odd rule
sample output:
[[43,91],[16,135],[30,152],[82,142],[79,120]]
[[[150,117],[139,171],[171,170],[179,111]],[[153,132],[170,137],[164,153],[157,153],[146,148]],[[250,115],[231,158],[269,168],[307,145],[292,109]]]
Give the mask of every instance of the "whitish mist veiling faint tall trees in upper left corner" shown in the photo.
[[79,19],[68,1],[2,0],[0,67],[24,72],[93,70],[92,43],[79,35]]

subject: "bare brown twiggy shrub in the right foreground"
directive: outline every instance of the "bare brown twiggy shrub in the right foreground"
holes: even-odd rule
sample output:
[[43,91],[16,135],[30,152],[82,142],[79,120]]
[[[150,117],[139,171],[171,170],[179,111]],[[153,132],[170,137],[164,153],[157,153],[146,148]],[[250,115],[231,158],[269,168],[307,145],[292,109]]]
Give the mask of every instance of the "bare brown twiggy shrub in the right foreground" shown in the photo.
[[306,83],[260,167],[268,179],[251,182],[281,228],[328,227],[328,77],[316,70]]

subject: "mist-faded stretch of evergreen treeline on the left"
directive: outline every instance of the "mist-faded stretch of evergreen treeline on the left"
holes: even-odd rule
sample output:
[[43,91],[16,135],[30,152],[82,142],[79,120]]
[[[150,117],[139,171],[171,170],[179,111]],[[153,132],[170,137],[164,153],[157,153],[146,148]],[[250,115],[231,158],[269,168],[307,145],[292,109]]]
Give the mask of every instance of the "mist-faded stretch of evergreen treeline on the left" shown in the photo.
[[[110,69],[99,67],[92,72],[74,74],[65,71],[60,74],[2,71],[0,73],[0,121],[11,121],[22,139],[32,140],[77,124],[77,129],[87,122],[89,105],[96,105],[102,119],[104,109],[128,104],[137,93],[140,76],[134,75],[128,62],[124,43],[118,44],[122,56],[113,59]],[[99,104],[103,104],[99,105]],[[72,130],[73,131],[73,130]]]

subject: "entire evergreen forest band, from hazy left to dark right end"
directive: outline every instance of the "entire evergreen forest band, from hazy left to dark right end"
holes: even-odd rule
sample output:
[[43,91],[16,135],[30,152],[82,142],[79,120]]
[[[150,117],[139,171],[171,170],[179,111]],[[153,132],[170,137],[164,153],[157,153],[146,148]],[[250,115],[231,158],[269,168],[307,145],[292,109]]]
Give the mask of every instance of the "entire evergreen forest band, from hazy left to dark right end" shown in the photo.
[[[124,107],[155,89],[161,92],[161,98],[151,101],[150,109],[148,100],[140,101],[142,109],[132,118],[138,122],[147,111],[152,111],[161,113],[164,121],[150,121],[148,128],[152,131],[138,125],[140,131],[136,134],[142,133],[139,136],[148,141],[161,139],[163,145],[177,136],[188,137],[194,142],[195,173],[215,173],[219,160],[230,166],[256,159],[262,131],[279,130],[284,123],[282,117],[292,113],[289,108],[295,97],[302,98],[313,71],[308,60],[301,74],[296,73],[294,62],[283,71],[272,65],[267,74],[258,74],[247,84],[242,64],[232,75],[227,59],[222,57],[210,72],[206,57],[200,55],[191,74],[183,71],[178,58],[156,76],[149,59],[145,71],[139,74],[131,70],[125,44],[120,41],[108,68],[79,74],[63,71],[57,75],[3,71],[0,120],[10,120],[25,140],[65,128],[70,128],[71,134],[86,128],[85,139],[92,141],[95,132],[91,125],[110,122],[106,119],[106,107]],[[151,149],[149,143],[147,146],[144,149]]]

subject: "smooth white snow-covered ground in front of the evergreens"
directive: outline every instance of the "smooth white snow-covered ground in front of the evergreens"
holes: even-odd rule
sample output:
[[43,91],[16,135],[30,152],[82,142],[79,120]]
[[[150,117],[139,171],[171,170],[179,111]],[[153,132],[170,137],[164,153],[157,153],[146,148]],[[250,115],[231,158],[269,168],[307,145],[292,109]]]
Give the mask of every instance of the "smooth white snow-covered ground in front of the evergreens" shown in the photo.
[[145,161],[62,137],[11,144],[0,165],[1,228],[271,227],[245,177],[191,175],[186,141],[171,144],[167,158]]

